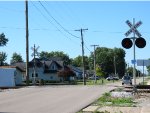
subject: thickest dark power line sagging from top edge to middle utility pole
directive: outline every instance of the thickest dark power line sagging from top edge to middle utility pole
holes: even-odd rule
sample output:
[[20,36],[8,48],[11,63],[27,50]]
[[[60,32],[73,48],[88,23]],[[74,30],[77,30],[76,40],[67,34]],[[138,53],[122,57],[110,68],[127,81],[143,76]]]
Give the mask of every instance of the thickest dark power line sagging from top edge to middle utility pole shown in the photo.
[[44,10],[47,12],[47,14],[68,34],[70,34],[71,36],[75,37],[75,38],[79,38],[77,36],[75,36],[74,34],[70,33],[68,30],[66,30],[52,15],[51,13],[46,9],[46,7],[39,1],[39,3],[41,4],[41,6],[44,8]]

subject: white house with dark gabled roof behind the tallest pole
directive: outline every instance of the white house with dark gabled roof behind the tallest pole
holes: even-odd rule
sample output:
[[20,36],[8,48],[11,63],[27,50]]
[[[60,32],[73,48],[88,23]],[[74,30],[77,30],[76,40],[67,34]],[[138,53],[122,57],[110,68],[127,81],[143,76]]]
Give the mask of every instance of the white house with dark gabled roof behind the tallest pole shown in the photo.
[[[26,80],[25,76],[25,69],[26,69],[26,63],[25,62],[18,62],[12,64],[14,66],[17,66],[24,70],[23,73],[23,79]],[[29,80],[33,81],[34,77],[38,80],[44,80],[44,81],[62,81],[62,78],[58,76],[58,71],[63,70],[64,65],[63,61],[59,59],[38,59],[35,58],[35,64],[34,59],[29,62]]]

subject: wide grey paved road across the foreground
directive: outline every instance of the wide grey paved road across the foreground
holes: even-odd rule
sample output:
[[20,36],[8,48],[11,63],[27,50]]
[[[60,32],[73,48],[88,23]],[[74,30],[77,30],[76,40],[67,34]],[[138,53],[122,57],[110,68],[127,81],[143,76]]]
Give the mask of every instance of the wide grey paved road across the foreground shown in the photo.
[[117,84],[44,86],[0,92],[0,113],[75,113]]

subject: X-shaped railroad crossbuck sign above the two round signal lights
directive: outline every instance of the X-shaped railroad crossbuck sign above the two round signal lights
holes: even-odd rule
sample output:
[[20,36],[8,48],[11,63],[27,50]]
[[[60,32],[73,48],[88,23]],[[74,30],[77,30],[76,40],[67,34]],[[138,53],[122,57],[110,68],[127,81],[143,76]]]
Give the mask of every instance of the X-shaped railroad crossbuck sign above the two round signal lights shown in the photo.
[[135,25],[132,25],[132,23],[127,20],[126,23],[130,27],[130,29],[125,33],[125,36],[129,36],[132,32],[135,33],[138,37],[141,37],[141,33],[137,30],[137,28],[142,24],[141,21],[137,22]]

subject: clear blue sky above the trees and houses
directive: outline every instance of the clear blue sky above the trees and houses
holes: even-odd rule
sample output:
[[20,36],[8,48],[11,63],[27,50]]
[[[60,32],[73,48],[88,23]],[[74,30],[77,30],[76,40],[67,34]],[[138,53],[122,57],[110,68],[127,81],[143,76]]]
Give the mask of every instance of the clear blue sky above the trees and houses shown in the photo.
[[[85,55],[93,48],[122,48],[121,41],[129,30],[126,20],[142,21],[138,31],[146,39],[143,49],[136,48],[136,59],[150,58],[150,1],[41,1],[49,14],[38,1],[29,1],[29,56],[35,44],[40,51],[64,51],[71,58],[81,55],[80,32],[84,34]],[[55,19],[55,20],[54,20]],[[57,21],[57,22],[56,22]],[[61,25],[58,25],[58,23]],[[64,31],[66,29],[68,32]],[[25,60],[25,3],[24,1],[0,1],[0,33],[9,39],[6,47],[0,51],[8,54],[10,61],[14,52],[20,53]],[[129,37],[132,37],[131,34]],[[88,49],[90,50],[88,50]],[[125,49],[126,61],[131,64],[133,48]]]

